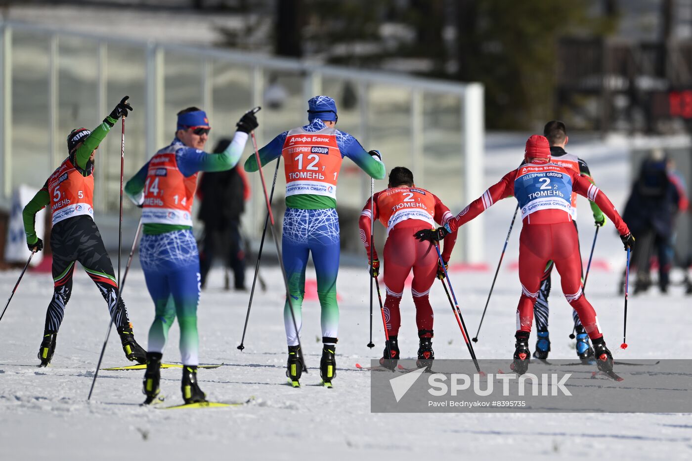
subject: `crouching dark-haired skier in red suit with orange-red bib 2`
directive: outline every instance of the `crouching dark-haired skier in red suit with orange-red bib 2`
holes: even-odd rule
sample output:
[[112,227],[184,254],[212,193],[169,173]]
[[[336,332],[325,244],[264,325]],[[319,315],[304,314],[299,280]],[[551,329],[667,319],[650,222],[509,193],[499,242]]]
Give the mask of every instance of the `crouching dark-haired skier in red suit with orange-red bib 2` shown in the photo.
[[[413,183],[413,173],[408,168],[396,167],[390,172],[387,189],[376,192],[371,204],[368,199],[361,212],[358,225],[361,228],[361,240],[365,245],[367,257],[370,258],[370,221],[379,219],[387,228],[387,242],[384,250],[384,278],[387,289],[384,312],[387,322],[389,341],[385,345],[380,364],[394,370],[399,360],[399,327],[401,314],[399,303],[403,296],[403,284],[413,270],[411,294],[416,306],[416,325],[418,327],[419,348],[418,366],[430,368],[435,353],[432,351],[432,307],[428,299],[430,287],[435,277],[444,278],[437,251],[430,242],[419,242],[412,232],[430,228],[435,223],[446,224],[453,217],[435,195],[428,190],[417,188]],[[372,215],[370,208],[373,208]],[[442,260],[446,263],[457,241],[457,233],[451,233],[444,239]],[[372,248],[370,275],[379,275],[380,262],[377,251]]]

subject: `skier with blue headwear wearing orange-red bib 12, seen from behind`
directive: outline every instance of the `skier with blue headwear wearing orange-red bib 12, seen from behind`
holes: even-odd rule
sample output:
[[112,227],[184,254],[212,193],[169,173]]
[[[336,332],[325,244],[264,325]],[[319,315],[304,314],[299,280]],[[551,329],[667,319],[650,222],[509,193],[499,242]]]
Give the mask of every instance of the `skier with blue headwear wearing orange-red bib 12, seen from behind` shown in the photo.
[[[336,304],[336,275],[339,268],[339,217],[336,214],[336,183],[344,157],[348,157],[375,179],[385,177],[385,166],[376,150],[367,152],[356,138],[334,127],[336,102],[329,96],[308,101],[309,123],[276,136],[260,150],[262,165],[284,158],[286,173],[286,213],[282,237],[283,261],[289,280],[289,296],[295,309],[295,332],[289,302],[284,306],[289,360],[286,375],[299,386],[302,351],[298,335],[305,292],[305,267],[312,253],[317,274],[317,294],[322,307],[322,359],[320,375],[325,383],[336,376],[334,351],[338,333],[339,309]],[[257,171],[251,156],[247,172]]]

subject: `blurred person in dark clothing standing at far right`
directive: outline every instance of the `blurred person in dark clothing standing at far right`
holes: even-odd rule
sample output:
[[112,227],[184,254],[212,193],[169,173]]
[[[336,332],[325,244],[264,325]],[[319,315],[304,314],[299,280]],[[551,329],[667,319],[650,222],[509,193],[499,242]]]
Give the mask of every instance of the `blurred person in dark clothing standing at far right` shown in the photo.
[[[677,184],[682,184],[678,182]],[[630,268],[636,275],[634,293],[651,285],[650,260],[658,257],[658,284],[662,293],[670,284],[675,215],[686,207],[684,190],[676,186],[669,161],[662,150],[654,150],[641,163],[639,177],[632,185],[623,219],[637,238]]]

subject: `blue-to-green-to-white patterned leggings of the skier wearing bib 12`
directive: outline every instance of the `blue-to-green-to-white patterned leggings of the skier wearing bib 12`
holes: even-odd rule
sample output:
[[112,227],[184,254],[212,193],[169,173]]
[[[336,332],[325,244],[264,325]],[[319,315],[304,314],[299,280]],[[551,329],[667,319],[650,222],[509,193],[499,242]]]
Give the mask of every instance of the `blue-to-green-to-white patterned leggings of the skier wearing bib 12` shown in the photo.
[[283,260],[289,279],[289,296],[298,324],[293,327],[289,302],[284,305],[284,326],[288,345],[298,344],[302,326],[302,300],[305,294],[305,269],[312,253],[317,275],[317,296],[322,307],[322,341],[336,338],[339,325],[339,307],[336,303],[336,276],[339,270],[339,217],[334,208],[326,210],[300,210],[286,208],[284,213]]

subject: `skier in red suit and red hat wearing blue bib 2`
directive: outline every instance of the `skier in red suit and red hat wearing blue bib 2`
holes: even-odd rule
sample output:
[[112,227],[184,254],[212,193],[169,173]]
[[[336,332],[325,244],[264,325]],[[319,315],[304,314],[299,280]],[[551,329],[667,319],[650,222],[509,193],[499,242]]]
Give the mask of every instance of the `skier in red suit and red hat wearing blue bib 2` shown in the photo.
[[608,197],[579,172],[551,163],[550,147],[544,136],[531,136],[526,143],[525,164],[504,175],[500,182],[436,230],[420,230],[419,239],[441,240],[496,201],[514,196],[522,214],[519,237],[519,280],[522,294],[517,307],[516,350],[512,369],[523,374],[529,367],[529,333],[534,320],[534,304],[540,278],[548,261],[560,274],[565,298],[576,310],[591,338],[599,370],[612,372],[612,354],[605,347],[594,308],[584,296],[581,284],[581,257],[576,229],[572,224],[572,191],[596,202],[610,218],[625,248],[633,248],[635,237],[610,203]]

